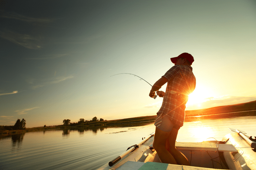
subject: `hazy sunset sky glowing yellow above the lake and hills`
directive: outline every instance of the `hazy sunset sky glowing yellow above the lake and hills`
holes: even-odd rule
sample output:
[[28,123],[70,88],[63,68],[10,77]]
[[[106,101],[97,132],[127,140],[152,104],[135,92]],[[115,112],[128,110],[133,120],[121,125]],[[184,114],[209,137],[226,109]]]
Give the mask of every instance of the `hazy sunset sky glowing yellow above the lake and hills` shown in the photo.
[[254,0],[8,0],[0,8],[0,125],[156,115],[162,98],[119,73],[153,85],[183,52],[197,80],[187,110],[256,100]]

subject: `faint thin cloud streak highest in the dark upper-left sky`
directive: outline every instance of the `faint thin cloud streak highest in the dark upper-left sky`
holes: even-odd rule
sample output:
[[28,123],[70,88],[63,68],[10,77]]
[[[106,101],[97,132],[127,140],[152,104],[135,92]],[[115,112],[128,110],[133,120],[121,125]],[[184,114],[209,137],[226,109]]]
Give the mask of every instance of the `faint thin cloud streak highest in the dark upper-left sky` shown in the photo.
[[32,18],[32,17],[20,15],[15,12],[7,12],[4,10],[0,10],[0,17],[1,18],[9,18],[9,19],[17,19],[19,21],[25,21],[25,22],[37,22],[37,23],[50,23],[50,22],[54,21],[54,19],[50,19],[50,18]]

